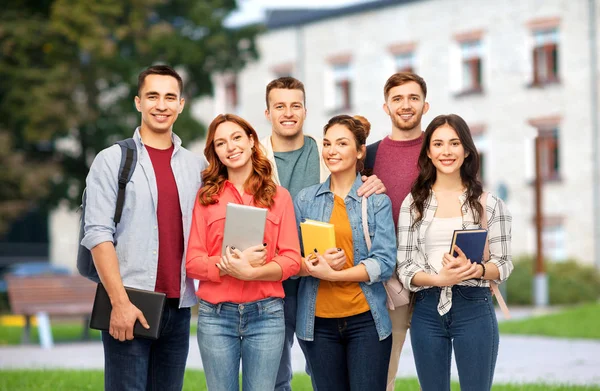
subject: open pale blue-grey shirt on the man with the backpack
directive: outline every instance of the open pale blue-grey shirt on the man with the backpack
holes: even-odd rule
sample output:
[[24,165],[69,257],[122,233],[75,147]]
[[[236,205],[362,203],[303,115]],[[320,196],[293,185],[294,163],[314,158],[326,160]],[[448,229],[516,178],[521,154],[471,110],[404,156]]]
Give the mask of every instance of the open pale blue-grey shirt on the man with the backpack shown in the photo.
[[[201,185],[201,172],[206,168],[203,157],[181,147],[181,139],[173,133],[171,168],[179,192],[184,254],[181,262],[180,307],[191,307],[196,301],[193,280],[186,278],[185,252],[192,222],[192,210]],[[118,171],[121,147],[106,148],[94,159],[86,178],[85,236],[81,244],[92,249],[103,242],[115,243],[123,285],[153,291],[158,268],[158,190],[148,151],[144,148],[139,128],[133,139],[138,161],[127,184],[121,222],[115,228]],[[115,232],[116,231],[116,232]]]

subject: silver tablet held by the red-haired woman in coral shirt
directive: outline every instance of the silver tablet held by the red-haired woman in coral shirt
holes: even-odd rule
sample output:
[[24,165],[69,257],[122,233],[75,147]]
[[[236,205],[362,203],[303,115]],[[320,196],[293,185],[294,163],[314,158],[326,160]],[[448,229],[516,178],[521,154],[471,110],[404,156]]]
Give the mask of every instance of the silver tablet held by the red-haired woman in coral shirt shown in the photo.
[[248,247],[262,244],[266,221],[267,209],[228,203],[221,254],[225,254],[227,246],[243,251]]

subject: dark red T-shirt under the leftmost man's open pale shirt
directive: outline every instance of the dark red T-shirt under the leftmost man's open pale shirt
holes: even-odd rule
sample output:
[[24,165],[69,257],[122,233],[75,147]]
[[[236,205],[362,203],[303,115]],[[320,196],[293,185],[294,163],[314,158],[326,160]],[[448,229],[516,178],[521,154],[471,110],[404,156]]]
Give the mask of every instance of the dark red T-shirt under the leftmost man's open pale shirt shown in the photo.
[[146,145],[154,167],[158,191],[158,271],[156,292],[166,293],[168,298],[178,298],[181,286],[181,262],[183,260],[183,222],[179,191],[171,169],[173,145],[169,149],[156,149]]

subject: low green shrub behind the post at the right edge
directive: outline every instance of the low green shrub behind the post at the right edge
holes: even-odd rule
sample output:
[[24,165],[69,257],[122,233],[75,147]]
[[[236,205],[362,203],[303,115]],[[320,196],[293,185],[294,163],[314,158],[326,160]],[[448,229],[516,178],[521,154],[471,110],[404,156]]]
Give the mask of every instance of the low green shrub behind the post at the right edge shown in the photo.
[[[506,282],[509,304],[533,304],[533,257],[513,260],[514,270]],[[575,260],[546,262],[549,304],[576,304],[600,298],[600,272]]]

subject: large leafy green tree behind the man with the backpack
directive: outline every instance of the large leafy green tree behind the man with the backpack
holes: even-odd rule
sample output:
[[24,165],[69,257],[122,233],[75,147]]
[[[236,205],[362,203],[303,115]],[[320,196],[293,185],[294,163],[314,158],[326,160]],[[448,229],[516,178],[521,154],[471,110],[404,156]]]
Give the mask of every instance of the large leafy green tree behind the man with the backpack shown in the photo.
[[[32,203],[78,205],[96,153],[139,122],[137,75],[165,63],[184,96],[257,57],[257,26],[224,27],[235,0],[13,0],[0,10],[0,232]],[[190,106],[175,124],[203,135]]]

